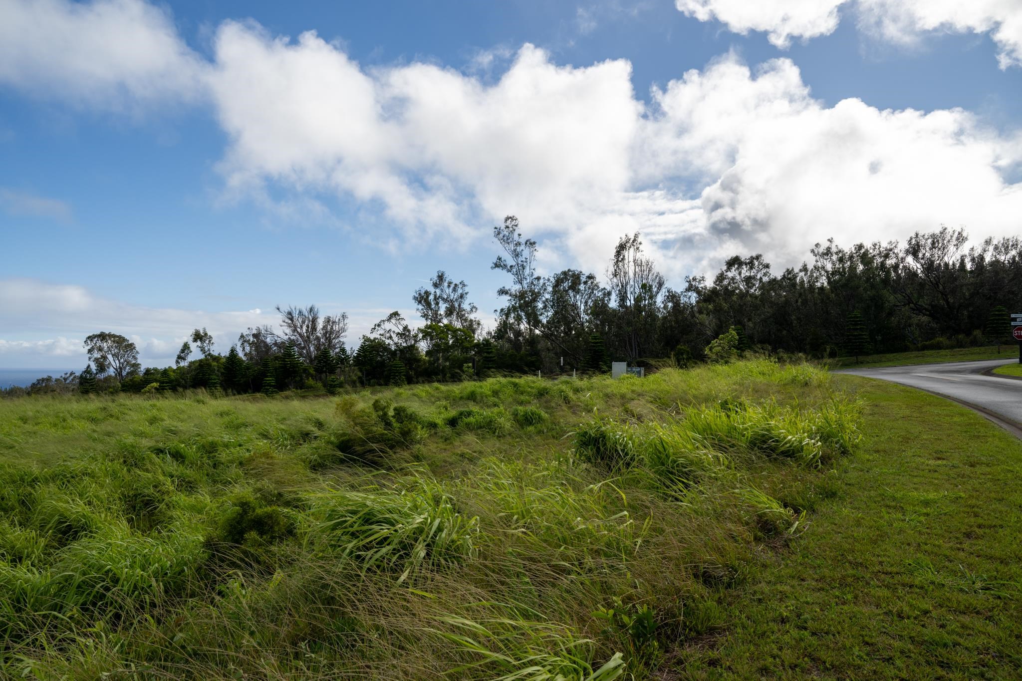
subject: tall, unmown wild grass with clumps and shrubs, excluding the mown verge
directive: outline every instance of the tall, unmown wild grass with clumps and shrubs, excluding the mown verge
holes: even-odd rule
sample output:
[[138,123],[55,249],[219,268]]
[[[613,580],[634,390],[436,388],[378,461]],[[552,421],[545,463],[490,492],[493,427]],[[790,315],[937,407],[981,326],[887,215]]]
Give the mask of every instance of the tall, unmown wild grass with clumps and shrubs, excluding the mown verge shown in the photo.
[[0,675],[651,678],[860,445],[806,364],[0,402]]

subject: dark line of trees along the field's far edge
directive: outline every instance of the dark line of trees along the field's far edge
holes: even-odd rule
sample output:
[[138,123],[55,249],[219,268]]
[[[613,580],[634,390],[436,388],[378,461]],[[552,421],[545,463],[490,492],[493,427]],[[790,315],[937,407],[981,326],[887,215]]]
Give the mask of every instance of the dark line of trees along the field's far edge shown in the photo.
[[277,307],[278,329],[248,329],[226,353],[196,329],[175,366],[143,369],[124,336],[85,340],[81,373],[45,377],[25,392],[167,392],[204,388],[234,393],[460,381],[495,374],[606,371],[611,360],[687,364],[746,350],[836,357],[1007,342],[1008,310],[1022,309],[1018,237],[969,245],[962,229],[917,233],[904,244],[833,239],[811,260],[780,274],[761,255],[728,259],[712,281],[666,285],[624,236],[604,278],[578,270],[537,271],[538,245],[509,215],[494,228],[506,273],[503,306],[483,328],[464,281],[437,272],[412,295],[423,324],[398,311],[345,344],[347,317],[315,305]]

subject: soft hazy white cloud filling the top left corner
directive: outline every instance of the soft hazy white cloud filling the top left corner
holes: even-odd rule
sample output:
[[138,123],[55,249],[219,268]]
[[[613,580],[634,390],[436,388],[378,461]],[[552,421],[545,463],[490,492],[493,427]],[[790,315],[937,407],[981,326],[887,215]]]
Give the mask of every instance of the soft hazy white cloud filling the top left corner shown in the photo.
[[0,0],[0,85],[102,109],[191,100],[202,61],[141,0]]

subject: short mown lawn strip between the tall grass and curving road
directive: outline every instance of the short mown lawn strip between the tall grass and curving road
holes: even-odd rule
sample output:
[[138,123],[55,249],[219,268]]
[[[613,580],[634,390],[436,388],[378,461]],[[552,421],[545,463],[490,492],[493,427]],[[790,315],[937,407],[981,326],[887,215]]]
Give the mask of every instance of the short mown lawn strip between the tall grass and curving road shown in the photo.
[[684,676],[1022,677],[1022,443],[947,400],[846,379],[867,444],[838,496],[769,551]]

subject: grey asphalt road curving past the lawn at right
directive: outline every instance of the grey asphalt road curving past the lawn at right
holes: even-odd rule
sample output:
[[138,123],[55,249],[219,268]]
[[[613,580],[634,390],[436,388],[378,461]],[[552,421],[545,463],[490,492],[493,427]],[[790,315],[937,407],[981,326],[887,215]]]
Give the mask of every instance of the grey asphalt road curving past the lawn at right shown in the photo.
[[1008,424],[1002,423],[1001,425],[1014,426],[1014,430],[1018,431],[1018,429],[1022,429],[1022,381],[982,375],[982,372],[988,369],[1013,361],[1018,361],[1018,358],[950,361],[939,364],[911,364],[878,369],[845,369],[836,373],[854,374],[855,376],[883,379],[914,388],[922,388],[944,397],[950,397],[967,406],[977,407],[980,414],[991,421],[997,422],[997,417],[1000,417],[1008,422]]

